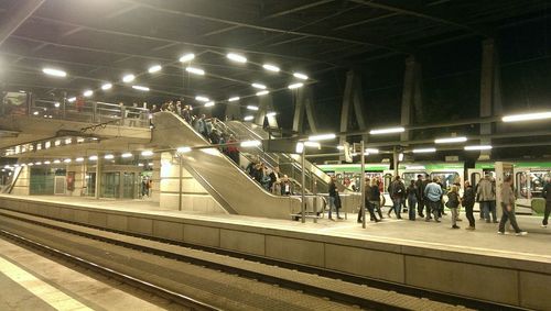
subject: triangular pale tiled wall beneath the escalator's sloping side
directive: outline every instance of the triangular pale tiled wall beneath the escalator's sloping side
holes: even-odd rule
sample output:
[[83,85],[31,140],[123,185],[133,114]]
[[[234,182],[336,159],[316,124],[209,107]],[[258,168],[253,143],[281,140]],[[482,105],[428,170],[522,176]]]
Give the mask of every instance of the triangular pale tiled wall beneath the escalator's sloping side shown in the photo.
[[[180,210],[180,164],[170,153],[162,153],[160,159],[160,207]],[[216,200],[193,176],[182,168],[182,210],[209,213],[226,213]]]

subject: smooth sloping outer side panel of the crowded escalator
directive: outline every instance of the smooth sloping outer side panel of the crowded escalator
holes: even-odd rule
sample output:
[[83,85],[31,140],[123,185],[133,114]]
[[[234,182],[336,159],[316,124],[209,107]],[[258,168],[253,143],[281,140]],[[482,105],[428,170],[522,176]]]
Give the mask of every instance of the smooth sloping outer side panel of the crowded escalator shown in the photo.
[[[158,148],[208,145],[176,114],[159,112],[153,118],[152,144]],[[289,219],[301,209],[300,200],[269,193],[217,148],[192,149],[181,156],[183,167],[228,213]]]

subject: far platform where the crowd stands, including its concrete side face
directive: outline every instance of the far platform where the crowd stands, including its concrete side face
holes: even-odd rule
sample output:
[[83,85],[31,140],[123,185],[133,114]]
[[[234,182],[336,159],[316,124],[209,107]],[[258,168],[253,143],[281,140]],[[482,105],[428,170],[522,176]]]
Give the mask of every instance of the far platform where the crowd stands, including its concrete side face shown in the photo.
[[[207,246],[529,309],[551,297],[551,229],[541,218],[518,216],[527,236],[498,235],[497,224],[476,231],[386,218],[306,223],[164,210],[147,200],[0,196],[0,208],[144,236]],[[1,211],[0,211],[1,212]],[[461,225],[461,224],[460,224]]]

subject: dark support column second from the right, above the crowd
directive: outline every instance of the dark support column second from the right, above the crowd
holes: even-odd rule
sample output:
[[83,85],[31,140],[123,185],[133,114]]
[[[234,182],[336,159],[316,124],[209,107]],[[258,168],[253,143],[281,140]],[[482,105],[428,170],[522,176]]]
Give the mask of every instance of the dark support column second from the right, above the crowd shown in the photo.
[[[415,57],[406,59],[406,71],[403,74],[401,125],[408,126],[415,121],[422,121],[422,93],[421,93],[421,64]],[[400,134],[400,141],[411,140],[411,132]]]

